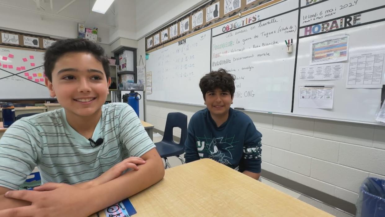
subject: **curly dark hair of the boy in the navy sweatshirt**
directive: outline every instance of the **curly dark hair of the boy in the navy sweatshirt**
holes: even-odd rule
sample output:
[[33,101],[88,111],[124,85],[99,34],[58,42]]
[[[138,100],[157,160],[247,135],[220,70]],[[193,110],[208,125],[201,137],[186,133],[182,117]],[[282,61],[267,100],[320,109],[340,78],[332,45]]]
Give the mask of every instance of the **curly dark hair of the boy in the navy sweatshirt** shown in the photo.
[[220,88],[222,91],[229,91],[231,98],[234,96],[235,77],[229,74],[225,69],[218,69],[218,71],[211,71],[209,74],[204,75],[199,81],[199,87],[201,88],[203,99],[206,100],[206,93]]

